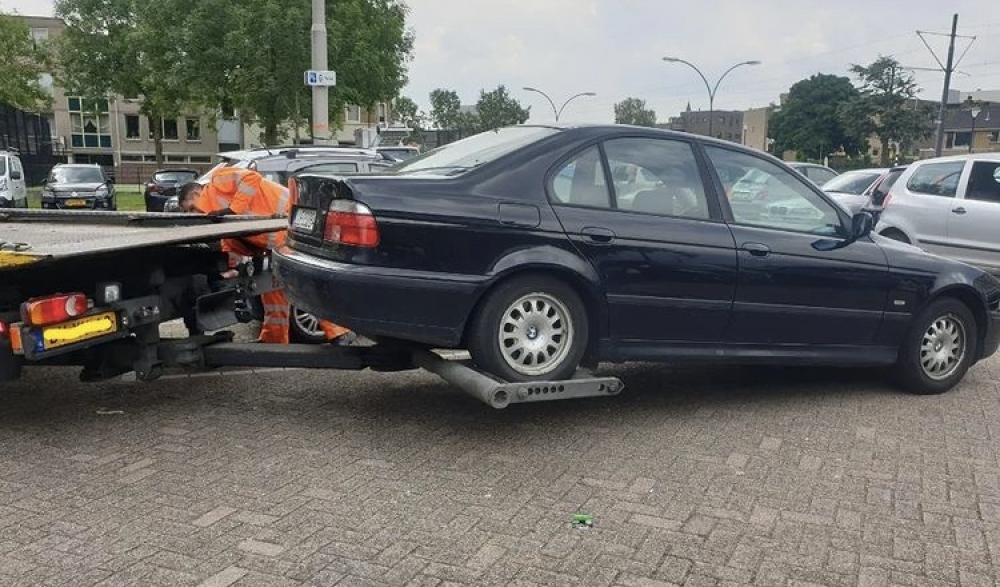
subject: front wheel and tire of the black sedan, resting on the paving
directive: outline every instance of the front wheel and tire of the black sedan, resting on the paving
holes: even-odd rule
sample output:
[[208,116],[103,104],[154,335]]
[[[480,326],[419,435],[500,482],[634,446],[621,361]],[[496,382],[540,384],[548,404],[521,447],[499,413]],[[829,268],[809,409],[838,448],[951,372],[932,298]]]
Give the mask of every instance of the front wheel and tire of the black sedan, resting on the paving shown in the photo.
[[913,320],[899,349],[896,379],[904,391],[944,393],[975,360],[978,328],[972,311],[954,298],[941,298]]

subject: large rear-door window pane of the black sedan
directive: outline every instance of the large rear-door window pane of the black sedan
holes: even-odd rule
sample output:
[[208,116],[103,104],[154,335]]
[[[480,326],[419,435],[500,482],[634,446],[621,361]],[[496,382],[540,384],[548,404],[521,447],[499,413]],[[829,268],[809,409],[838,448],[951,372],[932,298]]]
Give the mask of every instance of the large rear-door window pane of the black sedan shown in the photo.
[[612,139],[604,152],[619,210],[707,219],[708,200],[691,145],[646,138]]

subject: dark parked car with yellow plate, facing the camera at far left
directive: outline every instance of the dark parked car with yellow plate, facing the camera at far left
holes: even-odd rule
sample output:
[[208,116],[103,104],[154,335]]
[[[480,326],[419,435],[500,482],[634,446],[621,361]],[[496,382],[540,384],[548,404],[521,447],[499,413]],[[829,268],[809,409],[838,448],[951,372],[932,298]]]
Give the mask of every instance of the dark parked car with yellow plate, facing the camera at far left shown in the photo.
[[42,208],[117,210],[115,182],[100,165],[60,163],[42,186]]

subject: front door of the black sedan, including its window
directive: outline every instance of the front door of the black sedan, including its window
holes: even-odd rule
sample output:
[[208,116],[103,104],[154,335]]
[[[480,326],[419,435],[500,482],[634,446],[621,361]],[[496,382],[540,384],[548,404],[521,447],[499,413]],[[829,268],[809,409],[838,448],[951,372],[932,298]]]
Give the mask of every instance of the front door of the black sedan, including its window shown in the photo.
[[[768,176],[765,200],[728,202],[739,262],[726,340],[732,344],[872,344],[888,295],[888,263],[871,239],[842,243],[846,213],[815,187],[755,155],[706,146],[713,166]],[[729,191],[724,181],[723,189]]]

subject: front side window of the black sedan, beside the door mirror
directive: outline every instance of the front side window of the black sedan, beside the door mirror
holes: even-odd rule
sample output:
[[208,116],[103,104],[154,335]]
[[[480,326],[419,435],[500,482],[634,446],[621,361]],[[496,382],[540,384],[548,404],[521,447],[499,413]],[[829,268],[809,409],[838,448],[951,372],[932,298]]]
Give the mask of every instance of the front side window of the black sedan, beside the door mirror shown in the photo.
[[706,146],[737,224],[842,236],[840,215],[799,177],[770,161]]

